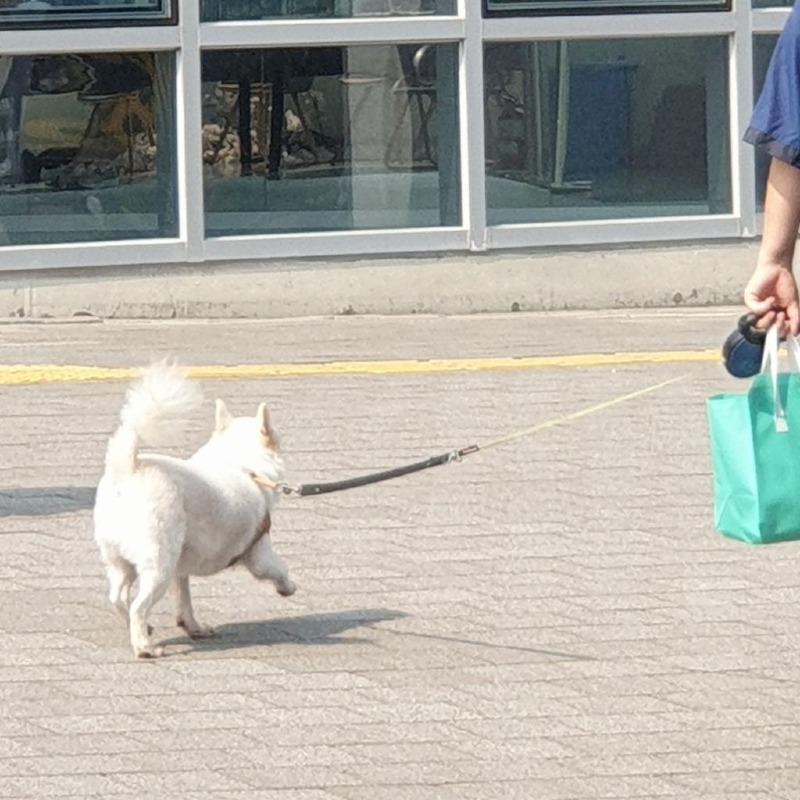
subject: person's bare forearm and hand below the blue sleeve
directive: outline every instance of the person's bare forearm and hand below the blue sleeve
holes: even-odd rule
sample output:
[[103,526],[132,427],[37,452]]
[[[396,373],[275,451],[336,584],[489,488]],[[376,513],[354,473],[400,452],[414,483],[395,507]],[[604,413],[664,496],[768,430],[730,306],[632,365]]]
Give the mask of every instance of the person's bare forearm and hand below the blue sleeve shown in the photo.
[[772,159],[764,201],[758,261],[744,300],[759,315],[758,327],[778,323],[782,334],[800,333],[800,306],[792,259],[800,227],[800,169]]

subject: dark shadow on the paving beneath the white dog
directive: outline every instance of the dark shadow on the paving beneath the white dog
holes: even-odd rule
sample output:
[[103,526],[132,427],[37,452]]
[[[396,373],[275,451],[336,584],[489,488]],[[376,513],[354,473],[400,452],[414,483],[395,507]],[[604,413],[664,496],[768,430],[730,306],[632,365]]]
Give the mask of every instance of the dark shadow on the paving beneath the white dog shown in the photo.
[[341,634],[356,628],[370,628],[378,622],[403,619],[408,614],[385,608],[362,608],[329,614],[305,614],[299,617],[279,617],[264,621],[232,622],[216,628],[210,639],[190,639],[176,636],[162,641],[165,645],[191,645],[199,652],[239,650],[246,647],[266,647],[278,644],[341,645],[368,641]]

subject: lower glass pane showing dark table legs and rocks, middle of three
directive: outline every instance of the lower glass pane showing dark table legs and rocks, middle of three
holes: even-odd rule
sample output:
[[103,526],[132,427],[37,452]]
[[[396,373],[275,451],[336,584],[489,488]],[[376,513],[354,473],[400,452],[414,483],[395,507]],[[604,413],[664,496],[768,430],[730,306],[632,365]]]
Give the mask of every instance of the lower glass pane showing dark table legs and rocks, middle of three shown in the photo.
[[457,225],[457,45],[203,55],[206,235]]

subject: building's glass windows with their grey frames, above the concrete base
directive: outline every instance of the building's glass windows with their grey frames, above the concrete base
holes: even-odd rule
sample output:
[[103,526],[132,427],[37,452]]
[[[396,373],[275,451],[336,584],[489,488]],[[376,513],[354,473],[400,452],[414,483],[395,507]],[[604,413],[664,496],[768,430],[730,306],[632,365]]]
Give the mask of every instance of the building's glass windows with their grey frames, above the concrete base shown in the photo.
[[0,270],[748,242],[763,2],[5,0]]

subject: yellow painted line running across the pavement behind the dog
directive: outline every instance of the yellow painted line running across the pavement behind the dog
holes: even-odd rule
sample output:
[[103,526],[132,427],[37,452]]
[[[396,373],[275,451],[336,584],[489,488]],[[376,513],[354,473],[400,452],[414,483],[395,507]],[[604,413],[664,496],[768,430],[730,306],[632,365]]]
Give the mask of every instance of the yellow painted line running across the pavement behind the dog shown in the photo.
[[[330,361],[307,364],[240,364],[188,367],[192,378],[205,380],[298,378],[325,375],[410,375],[448,372],[492,372],[580,367],[623,367],[633,364],[688,364],[720,361],[719,350],[666,350],[642,353],[583,353],[520,358],[433,358],[407,361]],[[138,369],[80,365],[0,365],[0,385],[128,381]]]

